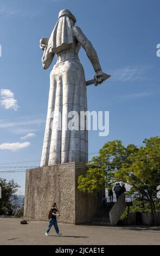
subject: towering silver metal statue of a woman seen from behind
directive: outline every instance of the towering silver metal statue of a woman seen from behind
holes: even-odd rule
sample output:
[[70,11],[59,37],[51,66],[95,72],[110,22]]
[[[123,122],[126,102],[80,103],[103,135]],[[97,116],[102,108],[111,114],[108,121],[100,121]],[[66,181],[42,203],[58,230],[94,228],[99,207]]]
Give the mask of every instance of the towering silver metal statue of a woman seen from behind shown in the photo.
[[[50,72],[48,113],[44,135],[41,167],[58,163],[88,161],[88,132],[86,127],[68,129],[68,113],[87,111],[84,69],[78,53],[82,46],[91,61],[95,85],[105,77],[96,51],[81,29],[75,26],[76,19],[69,10],[61,10],[50,38],[40,41],[43,50],[42,65],[48,69],[56,54],[57,62]],[[105,77],[105,78],[104,78]],[[109,77],[109,76],[108,76]]]

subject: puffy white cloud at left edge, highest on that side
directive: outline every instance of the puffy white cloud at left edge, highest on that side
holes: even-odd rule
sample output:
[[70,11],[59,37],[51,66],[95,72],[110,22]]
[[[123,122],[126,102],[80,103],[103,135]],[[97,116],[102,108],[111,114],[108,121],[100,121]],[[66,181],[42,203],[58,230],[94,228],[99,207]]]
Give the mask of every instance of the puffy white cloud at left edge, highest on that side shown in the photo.
[[15,99],[14,93],[9,89],[0,90],[0,103],[5,109],[13,108],[18,109],[18,103]]

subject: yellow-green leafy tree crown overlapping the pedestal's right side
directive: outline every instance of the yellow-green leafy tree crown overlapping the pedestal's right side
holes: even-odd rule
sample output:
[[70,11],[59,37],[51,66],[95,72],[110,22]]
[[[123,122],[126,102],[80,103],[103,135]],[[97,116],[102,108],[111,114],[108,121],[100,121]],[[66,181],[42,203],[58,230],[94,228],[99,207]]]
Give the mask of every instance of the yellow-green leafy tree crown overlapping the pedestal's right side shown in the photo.
[[88,192],[99,192],[104,187],[112,186],[116,179],[114,173],[126,161],[127,156],[137,153],[138,148],[130,144],[124,147],[121,141],[115,140],[105,143],[99,150],[99,156],[92,158],[87,164],[86,176],[79,176],[79,189]]

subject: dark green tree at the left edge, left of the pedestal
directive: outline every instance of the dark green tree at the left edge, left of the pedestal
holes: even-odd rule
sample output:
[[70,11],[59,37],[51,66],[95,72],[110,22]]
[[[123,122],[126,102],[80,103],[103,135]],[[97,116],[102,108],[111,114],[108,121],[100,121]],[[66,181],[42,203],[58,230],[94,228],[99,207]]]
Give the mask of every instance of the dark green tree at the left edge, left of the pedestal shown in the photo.
[[0,178],[0,186],[2,188],[2,198],[0,199],[0,215],[12,213],[12,201],[17,200],[16,192],[18,184],[14,180],[7,180]]

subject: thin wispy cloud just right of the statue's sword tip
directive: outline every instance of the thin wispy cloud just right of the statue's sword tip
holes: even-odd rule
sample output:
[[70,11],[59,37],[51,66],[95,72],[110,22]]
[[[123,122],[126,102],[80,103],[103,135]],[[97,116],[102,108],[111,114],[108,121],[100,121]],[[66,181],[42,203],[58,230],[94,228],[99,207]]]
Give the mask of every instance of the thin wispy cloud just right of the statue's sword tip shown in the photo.
[[150,68],[151,66],[129,66],[123,69],[116,69],[111,71],[112,79],[121,82],[143,80],[146,77],[145,72]]

